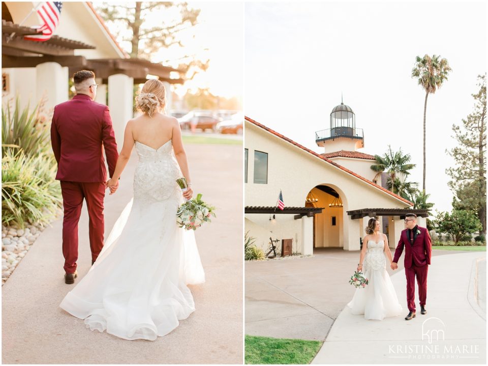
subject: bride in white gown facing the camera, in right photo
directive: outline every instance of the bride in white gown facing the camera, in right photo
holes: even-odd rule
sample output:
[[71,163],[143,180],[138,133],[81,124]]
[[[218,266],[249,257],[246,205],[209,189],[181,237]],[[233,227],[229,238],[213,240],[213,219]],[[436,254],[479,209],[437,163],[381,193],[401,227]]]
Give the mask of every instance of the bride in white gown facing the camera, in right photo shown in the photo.
[[383,320],[402,313],[402,305],[398,301],[390,276],[386,272],[386,257],[390,264],[393,259],[388,247],[388,238],[379,233],[380,222],[375,218],[368,221],[367,236],[362,241],[362,250],[357,266],[368,278],[368,285],[357,288],[352,300],[347,304],[354,315],[364,314],[364,319]]

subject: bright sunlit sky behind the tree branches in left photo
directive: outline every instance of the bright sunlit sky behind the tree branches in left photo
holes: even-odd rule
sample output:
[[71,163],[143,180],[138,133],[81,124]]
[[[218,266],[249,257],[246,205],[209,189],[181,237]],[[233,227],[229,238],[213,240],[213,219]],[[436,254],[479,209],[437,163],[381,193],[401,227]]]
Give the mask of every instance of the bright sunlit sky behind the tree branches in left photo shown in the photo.
[[[133,2],[110,2],[134,6]],[[237,97],[242,102],[243,91],[243,12],[242,2],[188,2],[190,8],[200,9],[198,24],[181,33],[184,48],[172,46],[163,48],[153,55],[151,61],[163,62],[174,60],[186,54],[195,54],[202,61],[210,60],[206,72],[197,74],[192,80],[178,88],[178,94],[185,94],[187,89],[209,88],[214,95],[226,98]],[[94,3],[95,6],[99,4]],[[151,26],[161,23],[165,17],[174,14],[154,11],[145,21]],[[127,51],[127,31],[121,32],[120,26],[107,24],[120,45]],[[129,42],[130,45],[130,42]]]

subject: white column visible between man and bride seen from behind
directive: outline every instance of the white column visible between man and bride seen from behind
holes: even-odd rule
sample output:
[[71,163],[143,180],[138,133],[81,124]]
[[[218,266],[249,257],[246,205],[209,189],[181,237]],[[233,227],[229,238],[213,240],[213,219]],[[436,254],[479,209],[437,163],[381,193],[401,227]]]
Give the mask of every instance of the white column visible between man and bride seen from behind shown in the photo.
[[127,121],[132,119],[132,94],[134,79],[124,74],[108,77],[108,107],[112,118],[117,149],[120,152],[124,143],[124,130]]

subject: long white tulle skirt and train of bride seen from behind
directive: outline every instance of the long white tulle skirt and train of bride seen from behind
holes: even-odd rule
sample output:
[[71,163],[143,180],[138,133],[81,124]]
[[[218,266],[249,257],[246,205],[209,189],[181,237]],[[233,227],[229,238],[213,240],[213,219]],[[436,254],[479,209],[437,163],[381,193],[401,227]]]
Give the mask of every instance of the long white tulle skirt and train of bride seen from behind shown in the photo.
[[182,202],[177,187],[162,201],[131,200],[97,261],[60,307],[90,329],[126,340],[154,341],[188,318],[195,303],[186,285],[203,283],[205,275],[194,232],[176,224]]

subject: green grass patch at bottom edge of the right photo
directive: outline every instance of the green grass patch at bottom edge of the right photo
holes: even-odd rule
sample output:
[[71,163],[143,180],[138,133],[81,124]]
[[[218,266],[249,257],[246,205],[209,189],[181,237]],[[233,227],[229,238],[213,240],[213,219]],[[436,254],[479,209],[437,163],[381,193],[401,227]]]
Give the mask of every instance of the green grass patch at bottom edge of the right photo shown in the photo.
[[323,342],[246,335],[247,364],[309,364]]

